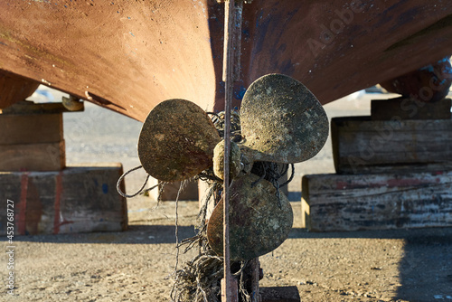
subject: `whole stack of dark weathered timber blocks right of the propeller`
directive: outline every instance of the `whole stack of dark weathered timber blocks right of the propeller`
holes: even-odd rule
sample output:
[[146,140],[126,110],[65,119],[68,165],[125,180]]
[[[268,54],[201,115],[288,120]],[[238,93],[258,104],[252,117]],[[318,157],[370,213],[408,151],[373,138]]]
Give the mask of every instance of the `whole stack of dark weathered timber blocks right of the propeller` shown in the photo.
[[451,100],[372,100],[371,117],[333,118],[334,175],[305,175],[312,231],[452,225]]

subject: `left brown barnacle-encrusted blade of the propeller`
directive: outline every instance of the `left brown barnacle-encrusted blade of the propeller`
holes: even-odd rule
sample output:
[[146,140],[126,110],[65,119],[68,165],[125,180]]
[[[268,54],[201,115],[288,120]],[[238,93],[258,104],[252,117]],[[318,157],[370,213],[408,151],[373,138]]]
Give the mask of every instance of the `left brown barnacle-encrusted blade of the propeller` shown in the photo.
[[182,181],[212,166],[220,136],[211,118],[185,99],[161,102],[146,118],[138,156],[146,172],[164,182]]

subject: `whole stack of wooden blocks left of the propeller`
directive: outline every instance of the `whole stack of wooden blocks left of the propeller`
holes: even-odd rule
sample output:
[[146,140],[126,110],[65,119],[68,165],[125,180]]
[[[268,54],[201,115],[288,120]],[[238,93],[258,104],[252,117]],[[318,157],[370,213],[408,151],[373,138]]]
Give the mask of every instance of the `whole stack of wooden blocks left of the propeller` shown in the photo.
[[[116,192],[122,165],[66,167],[66,111],[61,103],[19,102],[0,114],[0,187],[4,210],[6,200],[14,203],[14,231],[125,230],[127,203]],[[6,218],[5,210],[3,230]]]

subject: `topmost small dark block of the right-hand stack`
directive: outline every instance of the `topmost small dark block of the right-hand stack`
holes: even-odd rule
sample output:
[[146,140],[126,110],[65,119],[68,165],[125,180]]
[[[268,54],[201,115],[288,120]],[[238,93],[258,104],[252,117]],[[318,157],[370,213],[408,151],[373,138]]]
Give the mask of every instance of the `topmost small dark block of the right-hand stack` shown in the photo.
[[372,99],[372,120],[450,119],[451,99],[426,103],[418,99]]

